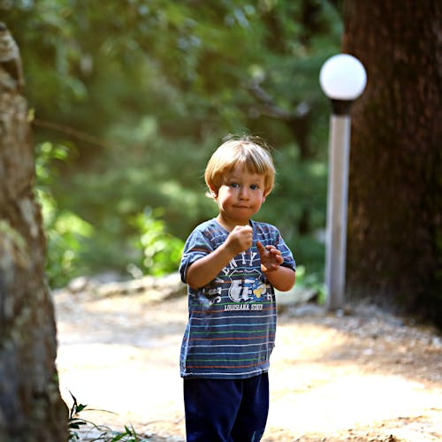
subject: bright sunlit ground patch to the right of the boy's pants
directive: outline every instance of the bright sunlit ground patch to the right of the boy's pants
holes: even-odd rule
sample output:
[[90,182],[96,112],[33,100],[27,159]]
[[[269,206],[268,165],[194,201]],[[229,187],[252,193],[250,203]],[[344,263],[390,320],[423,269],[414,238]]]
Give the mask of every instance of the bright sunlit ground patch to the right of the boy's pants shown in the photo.
[[[296,375],[296,370],[292,373]],[[315,377],[315,372],[310,376]],[[423,408],[442,409],[442,400],[427,394],[423,385],[394,376],[340,375],[337,371],[335,377],[303,392],[291,389],[290,381],[280,383],[273,378],[271,391],[278,400],[272,404],[269,426],[301,434],[418,416]]]

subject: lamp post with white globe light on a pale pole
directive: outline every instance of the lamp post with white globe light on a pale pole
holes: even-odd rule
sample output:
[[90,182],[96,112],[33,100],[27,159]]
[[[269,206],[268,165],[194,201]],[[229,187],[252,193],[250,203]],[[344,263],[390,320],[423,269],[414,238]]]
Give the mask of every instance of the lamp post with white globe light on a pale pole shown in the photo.
[[346,286],[348,163],[350,107],[362,94],[367,74],[362,63],[348,54],[329,58],[319,82],[331,100],[327,230],[325,243],[326,307],[342,309]]

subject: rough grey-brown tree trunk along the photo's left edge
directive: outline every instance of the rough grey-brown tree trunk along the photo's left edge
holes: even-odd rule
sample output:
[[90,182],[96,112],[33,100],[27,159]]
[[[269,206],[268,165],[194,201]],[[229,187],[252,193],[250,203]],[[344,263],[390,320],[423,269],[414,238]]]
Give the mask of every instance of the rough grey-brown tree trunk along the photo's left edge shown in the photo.
[[0,23],[0,440],[67,440],[19,50]]

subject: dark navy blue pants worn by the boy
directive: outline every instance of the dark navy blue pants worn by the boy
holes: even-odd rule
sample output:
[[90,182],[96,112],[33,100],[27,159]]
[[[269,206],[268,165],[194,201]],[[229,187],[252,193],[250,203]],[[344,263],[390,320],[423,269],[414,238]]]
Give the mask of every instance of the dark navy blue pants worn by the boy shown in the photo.
[[187,442],[258,442],[269,412],[269,376],[184,379],[184,407]]

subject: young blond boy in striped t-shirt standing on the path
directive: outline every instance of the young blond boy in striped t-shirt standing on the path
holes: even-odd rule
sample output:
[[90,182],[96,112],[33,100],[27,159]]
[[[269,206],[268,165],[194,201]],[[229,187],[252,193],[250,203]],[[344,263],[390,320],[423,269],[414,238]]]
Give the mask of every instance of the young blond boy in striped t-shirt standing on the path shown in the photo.
[[295,263],[276,227],[251,220],[274,184],[267,148],[226,141],[204,178],[219,214],[190,234],[179,267],[188,287],[180,354],[187,442],[255,442],[269,409],[273,289],[292,288]]

